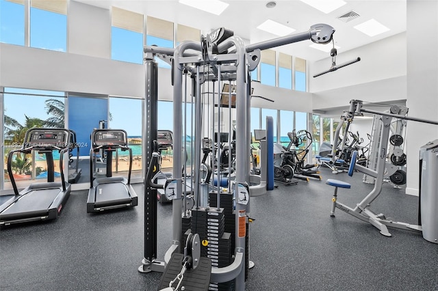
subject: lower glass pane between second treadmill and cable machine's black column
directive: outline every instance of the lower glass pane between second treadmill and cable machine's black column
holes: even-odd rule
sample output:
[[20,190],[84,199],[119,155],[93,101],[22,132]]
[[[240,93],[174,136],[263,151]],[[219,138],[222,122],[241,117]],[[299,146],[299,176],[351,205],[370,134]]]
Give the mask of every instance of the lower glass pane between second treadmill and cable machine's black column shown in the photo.
[[[109,98],[110,128],[126,130],[132,150],[131,177],[142,177],[142,100]],[[115,172],[128,171],[129,152],[118,150],[113,158]]]

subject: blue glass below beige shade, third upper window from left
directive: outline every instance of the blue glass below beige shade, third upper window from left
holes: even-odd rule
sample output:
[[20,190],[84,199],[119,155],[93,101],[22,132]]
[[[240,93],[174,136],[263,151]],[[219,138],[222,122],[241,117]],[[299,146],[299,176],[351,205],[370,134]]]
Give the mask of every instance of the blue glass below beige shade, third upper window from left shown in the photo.
[[143,64],[143,33],[111,27],[111,58]]

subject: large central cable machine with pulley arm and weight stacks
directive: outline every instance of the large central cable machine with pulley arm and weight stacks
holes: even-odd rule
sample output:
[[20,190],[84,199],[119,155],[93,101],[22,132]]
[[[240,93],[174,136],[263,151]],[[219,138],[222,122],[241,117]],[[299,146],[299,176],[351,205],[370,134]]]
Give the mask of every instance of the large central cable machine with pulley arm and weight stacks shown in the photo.
[[[147,169],[144,186],[144,259],[138,271],[149,273],[158,271],[164,273],[161,288],[163,290],[178,290],[184,284],[192,282],[193,273],[203,269],[208,273],[208,282],[224,283],[234,281],[235,290],[244,290],[246,271],[248,270],[248,214],[250,212],[250,71],[255,70],[260,60],[260,51],[284,44],[291,44],[303,40],[312,40],[315,43],[326,44],[333,38],[335,29],[329,25],[318,24],[310,27],[309,31],[298,33],[292,36],[285,36],[268,40],[257,44],[244,45],[241,38],[233,36],[233,31],[219,28],[207,36],[201,38],[201,42],[181,42],[177,48],[161,48],[157,46],[145,46],[145,70],[146,70],[146,92],[144,100],[144,112],[146,124],[143,136],[146,139],[143,146],[144,163],[143,169]],[[171,64],[171,76],[173,86],[173,171],[172,180],[165,185],[155,184],[153,174],[159,161],[157,153],[157,64],[153,60],[155,56],[161,57]],[[192,164],[191,173],[186,173],[185,154],[183,153],[183,139],[185,139],[185,126],[183,106],[187,100],[187,83],[190,78],[192,88],[192,108],[194,109],[194,138],[192,138]],[[203,92],[201,86],[210,83],[217,91],[218,100],[213,98],[213,108],[218,105],[218,118],[212,119],[217,122],[217,135],[220,141],[220,111],[222,110],[220,97],[222,96],[222,82],[235,82],[235,181],[230,187],[229,193],[234,210],[231,210],[234,218],[234,241],[231,249],[229,264],[219,265],[215,268],[214,258],[203,260],[201,251],[207,245],[214,245],[214,232],[209,232],[214,227],[202,227],[200,217],[207,217],[207,221],[216,221],[221,217],[226,203],[221,204],[221,177],[218,174],[218,184],[213,187],[210,193],[216,193],[216,203],[211,207],[201,205],[201,195],[204,195],[205,183],[200,178],[203,133]],[[231,90],[230,90],[231,92]],[[215,92],[216,93],[216,92]],[[233,92],[234,94],[234,92]],[[213,94],[215,96],[215,94]],[[229,94],[231,97],[231,94]],[[231,98],[230,98],[231,99]],[[214,112],[214,111],[213,111]],[[215,124],[212,126],[215,128]],[[215,133],[215,134],[216,134]],[[184,137],[184,138],[183,138]],[[214,135],[212,136],[214,139]],[[214,148],[213,148],[214,151]],[[231,153],[230,153],[231,154]],[[215,156],[215,152],[213,154]],[[218,147],[220,157],[220,148]],[[181,171],[183,169],[183,171]],[[190,177],[189,177],[190,176]],[[195,206],[188,208],[188,195],[185,193],[188,185],[192,188]],[[185,186],[183,186],[185,185]],[[157,260],[157,188],[164,188],[172,191],[172,245],[166,251],[164,262]],[[211,203],[211,199],[210,199]],[[211,204],[213,205],[213,204]],[[233,207],[231,205],[231,207]],[[183,239],[183,226],[185,227],[186,214],[192,212],[192,233]],[[194,220],[196,221],[195,230]],[[211,220],[210,220],[211,219]],[[184,225],[183,225],[184,223]],[[216,223],[216,222],[214,222]],[[218,221],[220,225],[220,221]],[[197,227],[197,230],[196,230]],[[205,230],[205,233],[203,233]],[[218,235],[216,235],[216,238]],[[217,241],[220,241],[220,237]],[[185,244],[185,245],[184,245]],[[183,253],[183,254],[182,254]],[[208,257],[208,255],[207,255]],[[168,266],[179,266],[177,275],[171,274]],[[191,272],[185,272],[187,270]],[[207,278],[205,277],[205,279]],[[184,280],[184,281],[183,281]],[[170,281],[170,282],[169,282]],[[182,285],[181,285],[182,282]],[[199,282],[198,282],[199,283]],[[168,287],[167,287],[168,286]],[[190,290],[206,290],[206,286],[192,285]],[[195,287],[197,286],[197,287]],[[207,286],[208,288],[208,286]]]

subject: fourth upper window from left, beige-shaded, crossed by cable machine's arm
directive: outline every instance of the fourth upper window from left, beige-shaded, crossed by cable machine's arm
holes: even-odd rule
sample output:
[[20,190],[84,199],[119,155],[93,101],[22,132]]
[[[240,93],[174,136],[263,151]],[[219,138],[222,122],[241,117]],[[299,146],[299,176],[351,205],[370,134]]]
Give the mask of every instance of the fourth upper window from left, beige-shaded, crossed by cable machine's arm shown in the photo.
[[[173,48],[173,23],[148,16],[146,29],[146,44],[148,46],[157,45]],[[155,61],[161,68],[170,68],[170,65],[162,59],[156,58]]]

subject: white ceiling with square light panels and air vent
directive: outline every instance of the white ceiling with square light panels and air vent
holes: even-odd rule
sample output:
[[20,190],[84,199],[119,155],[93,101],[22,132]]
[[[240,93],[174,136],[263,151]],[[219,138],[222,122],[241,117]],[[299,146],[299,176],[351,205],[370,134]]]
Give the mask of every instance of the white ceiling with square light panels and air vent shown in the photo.
[[[249,40],[250,43],[278,38],[278,36],[272,33],[256,28],[268,18],[296,29],[294,33],[308,31],[311,25],[317,23],[326,23],[336,30],[333,38],[335,44],[340,47],[337,50],[338,53],[406,31],[407,0],[344,0],[347,2],[346,5],[329,14],[324,14],[299,0],[276,0],[276,7],[274,8],[266,8],[266,3],[268,3],[269,0],[222,0],[230,5],[220,16],[190,8],[187,5],[179,3],[177,0],[75,1],[107,9],[110,9],[111,6],[114,5],[125,10],[201,29],[203,32],[218,27],[227,27],[233,30],[236,36]],[[354,11],[360,16],[348,23],[337,19],[337,17],[350,11]],[[390,30],[378,36],[370,37],[353,28],[355,25],[370,20],[371,18],[374,18]],[[277,50],[309,61],[317,61],[329,57],[329,53],[310,48],[309,45],[311,44],[312,42],[309,40],[296,44],[288,44],[287,46],[277,48]],[[332,46],[332,44],[326,45]]]

